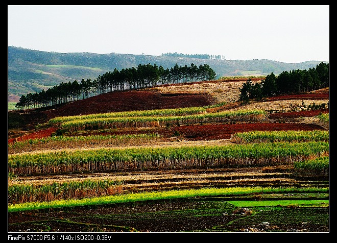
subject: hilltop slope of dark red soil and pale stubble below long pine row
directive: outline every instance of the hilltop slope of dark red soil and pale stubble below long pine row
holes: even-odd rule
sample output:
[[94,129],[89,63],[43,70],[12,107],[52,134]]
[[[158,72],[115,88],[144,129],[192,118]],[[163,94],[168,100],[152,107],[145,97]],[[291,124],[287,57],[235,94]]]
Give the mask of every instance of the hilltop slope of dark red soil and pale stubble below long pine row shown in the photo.
[[[259,79],[253,78],[253,82]],[[57,107],[8,111],[8,128],[33,129],[56,116],[87,115],[132,110],[170,109],[235,102],[246,80],[204,81],[160,85],[147,89],[108,92]],[[24,125],[22,125],[24,124]],[[11,131],[9,132],[11,134]]]

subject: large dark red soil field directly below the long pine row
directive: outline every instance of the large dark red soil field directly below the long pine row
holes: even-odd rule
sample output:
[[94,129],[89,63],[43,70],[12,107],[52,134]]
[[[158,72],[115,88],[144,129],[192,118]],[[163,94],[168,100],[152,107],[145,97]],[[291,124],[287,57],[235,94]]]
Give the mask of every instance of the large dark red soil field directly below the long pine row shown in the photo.
[[88,115],[132,110],[154,110],[208,106],[215,103],[209,94],[161,94],[156,91],[131,90],[116,91],[65,104],[43,111],[49,118],[55,116]]

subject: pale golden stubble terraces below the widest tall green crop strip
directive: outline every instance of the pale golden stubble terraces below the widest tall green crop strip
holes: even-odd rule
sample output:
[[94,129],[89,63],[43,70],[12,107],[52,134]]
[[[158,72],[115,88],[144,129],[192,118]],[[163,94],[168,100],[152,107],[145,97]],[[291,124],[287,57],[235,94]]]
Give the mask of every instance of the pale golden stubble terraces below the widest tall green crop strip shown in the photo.
[[[283,170],[286,168],[291,168],[292,165],[284,165],[282,166],[270,166],[270,169],[273,170],[275,168],[282,168]],[[278,172],[270,172],[269,176],[284,175],[283,173]],[[218,168],[218,169],[184,169],[182,171],[151,171],[151,172],[128,172],[128,173],[94,173],[94,174],[81,174],[81,175],[55,175],[55,176],[47,176],[41,178],[40,176],[33,177],[19,177],[14,180],[8,180],[8,185],[43,185],[43,184],[53,184],[57,183],[69,183],[74,181],[100,181],[100,180],[110,180],[110,181],[125,181],[123,187],[125,189],[130,189],[131,187],[157,187],[159,185],[178,185],[183,183],[194,184],[196,182],[220,182],[226,181],[230,182],[238,182],[240,179],[245,177],[256,177],[258,180],[263,180],[261,177],[266,175],[263,172],[262,167],[256,168],[237,168],[235,172],[232,169],[228,168]],[[279,178],[278,178],[279,179]],[[246,178],[247,180],[247,178]],[[265,179],[267,180],[267,179]],[[154,182],[155,181],[155,182]],[[253,182],[254,179],[251,179]],[[293,179],[285,179],[287,182],[294,182]]]

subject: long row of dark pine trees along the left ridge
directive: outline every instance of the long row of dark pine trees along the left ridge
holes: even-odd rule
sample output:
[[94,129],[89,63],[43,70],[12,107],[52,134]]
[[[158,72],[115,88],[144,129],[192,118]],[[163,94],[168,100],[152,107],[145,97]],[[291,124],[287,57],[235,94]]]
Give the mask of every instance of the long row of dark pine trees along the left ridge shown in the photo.
[[199,82],[215,78],[214,70],[207,64],[199,67],[193,63],[189,67],[176,64],[171,69],[164,69],[162,66],[158,67],[150,63],[139,64],[137,68],[123,68],[120,71],[115,68],[113,72],[106,72],[93,81],[82,79],[80,83],[76,80],[73,83],[62,82],[46,91],[42,89],[39,93],[22,95],[15,108],[25,110],[47,107],[86,99],[91,95],[101,93],[147,88],[161,84]]

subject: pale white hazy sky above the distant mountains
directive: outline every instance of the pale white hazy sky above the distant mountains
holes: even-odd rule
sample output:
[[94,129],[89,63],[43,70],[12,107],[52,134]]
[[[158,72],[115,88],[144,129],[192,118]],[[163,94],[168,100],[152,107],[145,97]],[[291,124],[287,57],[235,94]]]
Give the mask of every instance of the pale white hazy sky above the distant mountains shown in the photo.
[[329,5],[8,5],[8,45],[329,61]]

